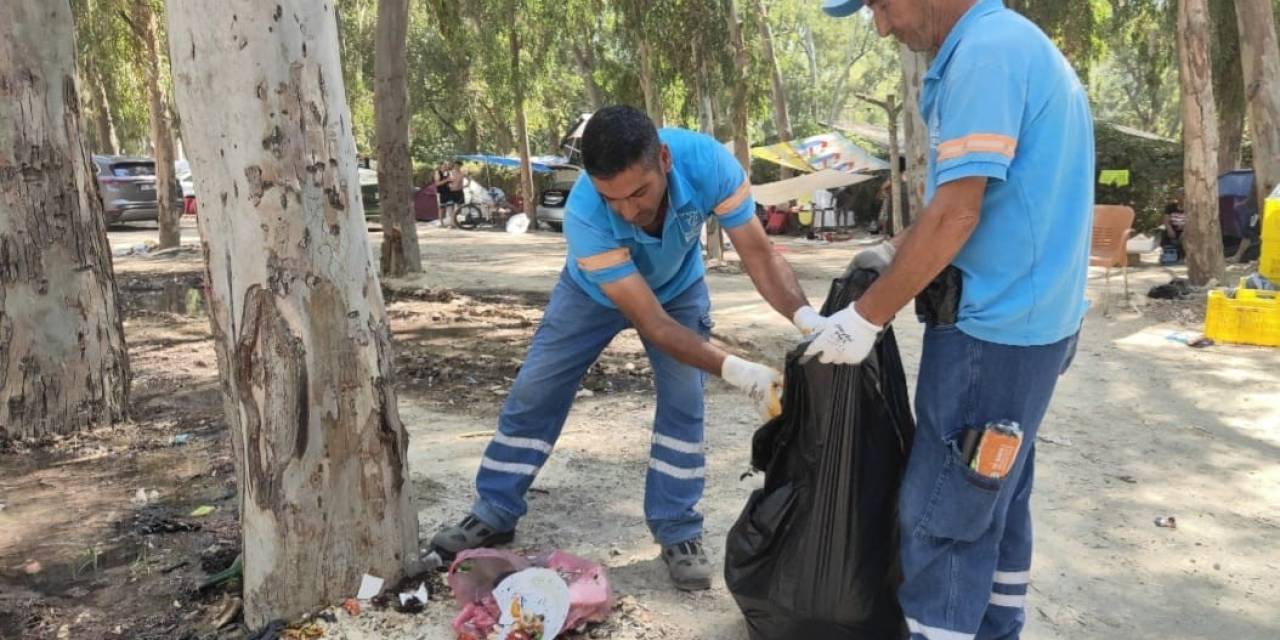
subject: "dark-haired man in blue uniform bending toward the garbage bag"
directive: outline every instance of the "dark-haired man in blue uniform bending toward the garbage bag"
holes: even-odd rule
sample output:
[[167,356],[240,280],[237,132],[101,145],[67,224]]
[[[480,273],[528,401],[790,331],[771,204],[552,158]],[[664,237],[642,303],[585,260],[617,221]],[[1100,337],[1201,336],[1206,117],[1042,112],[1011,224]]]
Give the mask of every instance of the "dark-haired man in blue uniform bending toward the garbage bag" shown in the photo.
[[431,540],[444,557],[511,541],[525,492],[550,456],[582,374],[635,328],[658,389],[645,518],[677,588],[710,588],[701,545],[703,383],[719,375],[762,413],[781,375],[710,342],[700,232],[714,215],[769,305],[804,333],[823,326],[755,218],[751,184],[716,140],[654,129],[630,106],[602,109],[582,134],[586,174],[566,207],[568,259],[498,419],[471,513]]

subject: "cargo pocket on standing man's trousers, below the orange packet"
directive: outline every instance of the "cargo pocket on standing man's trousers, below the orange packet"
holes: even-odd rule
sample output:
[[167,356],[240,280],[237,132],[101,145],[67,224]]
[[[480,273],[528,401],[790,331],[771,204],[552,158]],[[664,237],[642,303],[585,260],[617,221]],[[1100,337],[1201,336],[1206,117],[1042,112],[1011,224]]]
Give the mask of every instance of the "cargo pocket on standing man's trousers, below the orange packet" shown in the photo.
[[961,543],[982,538],[991,527],[1002,484],[960,462],[960,452],[951,444],[914,534]]

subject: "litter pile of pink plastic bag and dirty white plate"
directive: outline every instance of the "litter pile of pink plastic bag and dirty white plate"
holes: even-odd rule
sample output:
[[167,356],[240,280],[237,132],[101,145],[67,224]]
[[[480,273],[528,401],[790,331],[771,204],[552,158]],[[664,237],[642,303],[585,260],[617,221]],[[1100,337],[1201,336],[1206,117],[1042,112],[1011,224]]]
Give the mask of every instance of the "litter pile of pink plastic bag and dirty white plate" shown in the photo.
[[[453,618],[453,630],[474,640],[489,640],[499,625],[502,630],[494,639],[521,637],[517,622],[529,622],[529,634],[539,617],[540,637],[550,639],[561,630],[604,622],[613,611],[613,590],[604,567],[558,550],[535,557],[499,549],[466,550],[449,567],[448,581],[462,607]],[[563,585],[563,591],[556,582]],[[564,608],[559,604],[563,594],[568,596]]]

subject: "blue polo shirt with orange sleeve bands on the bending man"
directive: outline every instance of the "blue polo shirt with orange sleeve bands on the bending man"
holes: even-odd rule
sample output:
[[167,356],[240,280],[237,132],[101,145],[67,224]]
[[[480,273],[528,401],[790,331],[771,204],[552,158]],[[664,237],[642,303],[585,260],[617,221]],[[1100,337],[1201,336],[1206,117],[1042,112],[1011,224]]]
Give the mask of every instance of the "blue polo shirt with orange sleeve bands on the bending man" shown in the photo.
[[667,216],[662,237],[614,214],[584,172],[564,206],[566,270],[593,300],[617,306],[602,284],[639,273],[666,305],[703,278],[700,232],[712,215],[726,229],[755,215],[751,183],[742,166],[716,138],[685,129],[662,129],[671,148]]

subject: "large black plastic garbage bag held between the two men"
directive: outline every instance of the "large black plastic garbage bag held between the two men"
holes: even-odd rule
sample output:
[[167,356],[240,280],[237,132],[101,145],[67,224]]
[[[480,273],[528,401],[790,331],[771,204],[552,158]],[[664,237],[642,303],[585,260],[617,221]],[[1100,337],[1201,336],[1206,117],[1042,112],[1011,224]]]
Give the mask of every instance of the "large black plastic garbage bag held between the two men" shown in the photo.
[[[823,315],[873,279],[835,280]],[[787,357],[782,415],[753,439],[764,488],[730,530],[724,579],[753,640],[905,639],[897,492],[915,422],[893,330],[860,366],[801,353]]]

